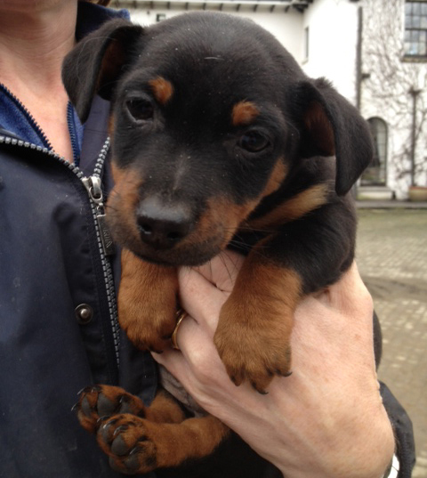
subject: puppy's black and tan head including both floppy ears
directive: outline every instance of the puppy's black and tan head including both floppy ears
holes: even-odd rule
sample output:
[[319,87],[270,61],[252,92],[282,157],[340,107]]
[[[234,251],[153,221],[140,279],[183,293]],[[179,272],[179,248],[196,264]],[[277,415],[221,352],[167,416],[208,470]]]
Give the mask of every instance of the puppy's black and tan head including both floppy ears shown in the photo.
[[83,120],[94,94],[111,101],[109,224],[157,263],[217,254],[304,158],[336,155],[339,194],[370,159],[350,104],[248,20],[111,21],[68,55],[63,79]]

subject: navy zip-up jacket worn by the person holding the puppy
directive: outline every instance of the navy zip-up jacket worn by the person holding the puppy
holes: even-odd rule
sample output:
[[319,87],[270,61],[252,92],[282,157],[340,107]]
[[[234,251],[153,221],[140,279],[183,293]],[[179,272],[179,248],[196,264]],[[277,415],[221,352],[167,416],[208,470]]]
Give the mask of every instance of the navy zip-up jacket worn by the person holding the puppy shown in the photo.
[[[79,4],[77,38],[116,16],[127,14]],[[78,167],[69,165],[52,154],[34,119],[0,85],[2,478],[121,476],[109,468],[93,436],[78,425],[71,411],[77,392],[96,383],[120,385],[146,403],[156,392],[154,362],[136,351],[118,328],[118,257],[104,254],[96,218],[100,212],[85,186],[85,178],[95,176],[101,178],[104,194],[111,187],[108,115],[109,103],[96,99],[83,128],[69,105]],[[383,398],[402,442],[401,476],[410,476],[410,421],[385,387]],[[238,446],[244,448],[245,463],[233,463],[222,447],[230,476],[279,476],[245,445]],[[214,465],[199,473],[225,476]]]

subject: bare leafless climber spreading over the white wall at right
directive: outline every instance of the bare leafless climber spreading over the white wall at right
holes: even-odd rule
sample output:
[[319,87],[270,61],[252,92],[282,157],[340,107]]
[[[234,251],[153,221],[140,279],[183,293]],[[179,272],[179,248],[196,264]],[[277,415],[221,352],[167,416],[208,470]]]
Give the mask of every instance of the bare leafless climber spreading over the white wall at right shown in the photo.
[[404,0],[363,5],[363,110],[385,119],[394,138],[391,166],[398,178],[415,185],[427,171],[426,64],[406,56]]

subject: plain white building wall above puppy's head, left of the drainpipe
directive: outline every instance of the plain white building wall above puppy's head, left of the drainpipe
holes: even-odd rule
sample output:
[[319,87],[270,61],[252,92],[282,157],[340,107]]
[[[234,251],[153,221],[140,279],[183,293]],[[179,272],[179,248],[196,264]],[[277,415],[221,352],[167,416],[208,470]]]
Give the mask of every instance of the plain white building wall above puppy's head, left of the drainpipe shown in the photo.
[[[201,5],[199,7],[201,8]],[[356,50],[358,36],[359,3],[349,0],[315,0],[303,13],[290,8],[277,7],[273,12],[260,7],[257,12],[252,7],[242,6],[239,12],[235,7],[224,6],[224,12],[254,20],[266,28],[286,49],[310,77],[326,77],[348,100],[356,101]],[[197,9],[197,4],[191,4]],[[210,7],[207,5],[206,9]],[[184,5],[171,4],[171,8],[146,10],[129,8],[132,20],[141,25],[157,21],[157,15],[170,18],[185,14]],[[305,58],[304,28],[310,29],[310,52]]]

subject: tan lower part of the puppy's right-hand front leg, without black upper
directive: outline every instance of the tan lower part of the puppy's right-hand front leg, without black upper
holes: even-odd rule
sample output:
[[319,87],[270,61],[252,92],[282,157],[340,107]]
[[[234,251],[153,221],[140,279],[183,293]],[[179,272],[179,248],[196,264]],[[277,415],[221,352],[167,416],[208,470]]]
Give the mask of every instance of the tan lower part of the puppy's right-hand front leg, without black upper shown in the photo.
[[300,298],[295,271],[269,262],[256,249],[248,255],[214,336],[236,385],[248,380],[264,393],[274,375],[289,374],[290,336]]

